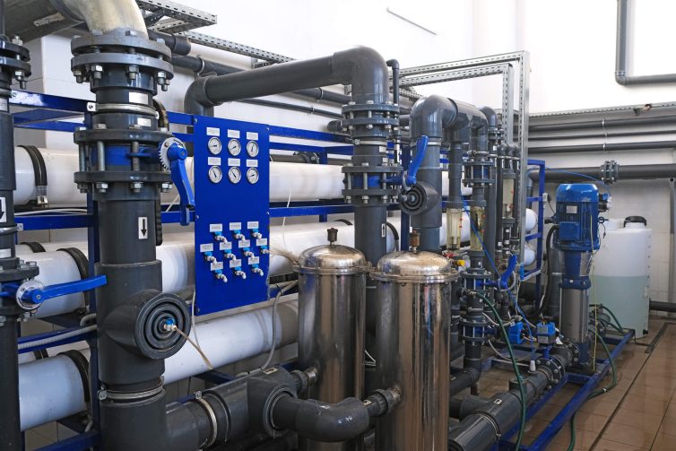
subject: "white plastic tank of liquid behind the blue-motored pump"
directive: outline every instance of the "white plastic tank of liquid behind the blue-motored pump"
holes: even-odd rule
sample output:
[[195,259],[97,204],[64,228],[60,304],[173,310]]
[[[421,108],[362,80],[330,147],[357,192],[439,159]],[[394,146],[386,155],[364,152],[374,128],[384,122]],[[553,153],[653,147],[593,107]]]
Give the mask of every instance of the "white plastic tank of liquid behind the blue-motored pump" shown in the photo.
[[648,329],[652,230],[640,216],[611,219],[604,225],[605,238],[590,273],[590,301],[610,308],[623,327],[642,337]]

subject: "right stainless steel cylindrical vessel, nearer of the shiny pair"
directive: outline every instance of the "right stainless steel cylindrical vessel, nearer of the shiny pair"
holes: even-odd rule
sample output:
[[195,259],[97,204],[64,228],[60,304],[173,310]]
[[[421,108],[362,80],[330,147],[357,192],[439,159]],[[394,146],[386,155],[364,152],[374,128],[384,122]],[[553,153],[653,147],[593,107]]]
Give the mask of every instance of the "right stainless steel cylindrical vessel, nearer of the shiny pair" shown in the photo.
[[376,424],[377,451],[446,451],[452,282],[458,273],[430,252],[394,252],[377,281],[376,378],[401,403]]

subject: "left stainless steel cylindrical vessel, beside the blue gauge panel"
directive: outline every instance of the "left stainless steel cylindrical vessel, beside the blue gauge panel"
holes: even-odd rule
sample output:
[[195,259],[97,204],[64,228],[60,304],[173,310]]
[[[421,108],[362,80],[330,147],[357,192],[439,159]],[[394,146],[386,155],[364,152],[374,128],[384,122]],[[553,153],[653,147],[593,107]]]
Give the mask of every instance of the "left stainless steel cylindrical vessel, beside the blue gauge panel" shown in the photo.
[[[326,403],[350,396],[362,399],[366,258],[351,247],[311,247],[300,254],[294,269],[299,273],[299,366],[317,372],[316,385],[303,395]],[[299,442],[308,451],[361,449],[360,438]]]

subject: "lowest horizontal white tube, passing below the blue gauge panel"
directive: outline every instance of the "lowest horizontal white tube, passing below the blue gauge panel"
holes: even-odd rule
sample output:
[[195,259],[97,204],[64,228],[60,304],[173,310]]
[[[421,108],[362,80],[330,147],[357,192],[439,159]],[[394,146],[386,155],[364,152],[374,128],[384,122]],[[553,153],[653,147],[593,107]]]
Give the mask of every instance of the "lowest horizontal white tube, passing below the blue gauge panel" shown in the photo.
[[[298,301],[282,302],[277,315],[276,345],[293,343],[298,336]],[[270,350],[273,308],[257,308],[229,317],[197,323],[202,350],[214,367],[255,357]],[[191,332],[195,338],[195,331]],[[189,344],[165,360],[165,383],[206,371],[204,360]],[[80,373],[73,360],[50,357],[19,366],[22,430],[57,421],[86,409]]]

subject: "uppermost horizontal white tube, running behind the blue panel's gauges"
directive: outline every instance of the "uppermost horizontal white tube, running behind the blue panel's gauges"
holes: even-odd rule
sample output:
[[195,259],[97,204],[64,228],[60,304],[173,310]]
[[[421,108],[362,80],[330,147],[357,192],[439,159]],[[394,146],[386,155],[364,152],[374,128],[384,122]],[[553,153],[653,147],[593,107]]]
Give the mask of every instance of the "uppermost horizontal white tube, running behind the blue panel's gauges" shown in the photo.
[[[40,148],[47,168],[47,197],[50,206],[84,206],[86,196],[77,190],[73,174],[78,170],[78,154],[75,150]],[[28,152],[22,147],[14,148],[17,188],[14,203],[28,204],[37,198],[33,164]],[[187,173],[193,184],[193,159],[186,160]],[[446,174],[446,172],[444,172]],[[310,201],[316,199],[342,198],[342,172],[340,166],[324,164],[270,163],[270,200],[272,202]],[[443,191],[448,190],[448,178],[443,177]],[[225,182],[223,182],[225,183]],[[472,188],[463,186],[463,195],[472,194]],[[162,202],[169,204],[176,199],[176,189],[162,195]]]

